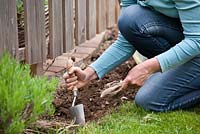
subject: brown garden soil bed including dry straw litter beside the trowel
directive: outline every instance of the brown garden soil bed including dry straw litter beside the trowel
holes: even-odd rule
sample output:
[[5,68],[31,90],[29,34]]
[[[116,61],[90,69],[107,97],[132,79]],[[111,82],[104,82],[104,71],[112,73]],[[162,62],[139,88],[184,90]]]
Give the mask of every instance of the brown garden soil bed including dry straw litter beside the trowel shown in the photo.
[[[97,53],[95,53],[86,64],[94,62],[117,38],[118,30],[116,27],[111,28],[105,32],[103,42]],[[130,58],[124,64],[118,66],[116,69],[105,75],[102,79],[96,79],[91,81],[84,88],[79,89],[78,98],[76,104],[84,105],[86,122],[97,121],[106,114],[110,114],[111,111],[117,111],[119,106],[126,101],[133,101],[136,89],[128,88],[122,90],[115,96],[106,96],[101,98],[101,92],[104,91],[106,84],[113,81],[123,80],[128,71],[135,66],[135,61]],[[76,126],[73,125],[72,115],[69,112],[69,108],[72,105],[73,95],[72,91],[68,91],[62,86],[64,82],[62,78],[63,73],[56,75],[60,79],[60,86],[55,93],[53,105],[56,111],[53,116],[43,115],[35,124],[31,125],[24,131],[25,134],[35,132],[35,129],[41,132],[49,132],[48,130],[64,127],[72,129]]]

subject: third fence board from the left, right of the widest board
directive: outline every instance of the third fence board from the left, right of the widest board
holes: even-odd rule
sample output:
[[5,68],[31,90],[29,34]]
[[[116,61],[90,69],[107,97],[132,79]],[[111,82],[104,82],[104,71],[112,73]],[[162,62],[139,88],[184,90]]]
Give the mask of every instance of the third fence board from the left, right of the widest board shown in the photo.
[[63,53],[63,16],[62,0],[49,0],[50,22],[50,58],[56,58]]

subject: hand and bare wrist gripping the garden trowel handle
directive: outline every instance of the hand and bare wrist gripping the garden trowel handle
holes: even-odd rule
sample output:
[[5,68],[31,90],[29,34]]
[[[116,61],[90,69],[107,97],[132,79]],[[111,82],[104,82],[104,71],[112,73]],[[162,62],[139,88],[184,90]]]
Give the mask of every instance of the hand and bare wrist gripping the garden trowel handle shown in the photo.
[[68,72],[63,75],[66,83],[66,88],[68,90],[72,90],[74,86],[76,86],[77,88],[84,87],[96,77],[97,76],[95,71],[89,67],[85,70],[82,70],[79,67],[71,67]]

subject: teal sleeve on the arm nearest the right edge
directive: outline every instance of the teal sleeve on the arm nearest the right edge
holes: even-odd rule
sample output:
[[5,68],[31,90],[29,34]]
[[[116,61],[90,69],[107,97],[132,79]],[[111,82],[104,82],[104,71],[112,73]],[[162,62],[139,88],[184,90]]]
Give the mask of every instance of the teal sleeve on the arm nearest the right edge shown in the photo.
[[157,56],[162,72],[184,64],[200,54],[200,1],[174,0],[183,26],[184,40]]

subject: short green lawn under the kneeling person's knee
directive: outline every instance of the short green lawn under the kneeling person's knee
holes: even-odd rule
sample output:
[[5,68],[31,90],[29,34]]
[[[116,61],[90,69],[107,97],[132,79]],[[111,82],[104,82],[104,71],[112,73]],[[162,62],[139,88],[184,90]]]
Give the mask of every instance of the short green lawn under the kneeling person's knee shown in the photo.
[[200,134],[200,109],[152,113],[126,103],[118,111],[79,129],[80,134]]

